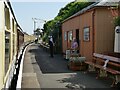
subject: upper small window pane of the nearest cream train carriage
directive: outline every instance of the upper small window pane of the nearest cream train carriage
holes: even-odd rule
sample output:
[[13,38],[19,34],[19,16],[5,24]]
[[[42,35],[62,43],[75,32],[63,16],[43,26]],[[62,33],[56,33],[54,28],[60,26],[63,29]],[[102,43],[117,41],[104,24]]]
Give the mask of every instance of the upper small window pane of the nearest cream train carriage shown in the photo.
[[10,13],[9,8],[5,5],[5,26],[9,30],[10,29]]

